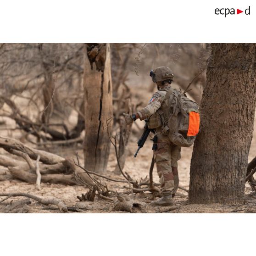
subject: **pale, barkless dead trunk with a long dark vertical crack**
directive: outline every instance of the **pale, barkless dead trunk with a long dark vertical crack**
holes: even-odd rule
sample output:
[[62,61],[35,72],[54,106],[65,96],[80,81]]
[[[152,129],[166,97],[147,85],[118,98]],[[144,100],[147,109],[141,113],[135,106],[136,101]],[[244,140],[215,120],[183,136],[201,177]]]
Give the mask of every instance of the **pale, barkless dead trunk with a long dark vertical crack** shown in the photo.
[[84,167],[94,172],[105,172],[111,134],[112,82],[109,44],[88,44],[84,53]]

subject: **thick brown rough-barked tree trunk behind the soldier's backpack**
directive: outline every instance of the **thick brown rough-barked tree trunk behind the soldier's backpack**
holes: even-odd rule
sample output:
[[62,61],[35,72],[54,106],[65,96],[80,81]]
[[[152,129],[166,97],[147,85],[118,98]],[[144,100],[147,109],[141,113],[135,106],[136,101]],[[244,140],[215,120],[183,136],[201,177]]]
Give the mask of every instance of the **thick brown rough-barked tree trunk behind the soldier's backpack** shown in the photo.
[[191,203],[243,199],[256,106],[255,44],[212,44],[190,166]]

